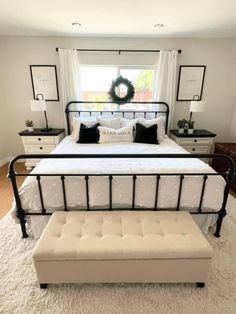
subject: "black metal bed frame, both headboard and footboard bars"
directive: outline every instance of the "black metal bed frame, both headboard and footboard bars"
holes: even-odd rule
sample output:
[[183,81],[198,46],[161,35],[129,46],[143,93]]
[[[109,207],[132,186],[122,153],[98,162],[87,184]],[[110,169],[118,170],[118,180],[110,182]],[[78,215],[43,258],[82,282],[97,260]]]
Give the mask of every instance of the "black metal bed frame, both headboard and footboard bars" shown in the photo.
[[[69,121],[69,113],[70,112],[78,112],[80,114],[80,112],[82,111],[78,111],[78,110],[71,110],[69,109],[70,104],[72,103],[84,103],[84,102],[70,102],[67,107],[66,107],[66,115],[67,115],[67,122],[68,122],[68,133],[70,134],[70,121]],[[87,102],[88,103],[88,102]],[[89,102],[89,103],[94,103],[94,102]],[[157,102],[156,102],[157,103]],[[158,103],[157,103],[158,104]],[[164,104],[167,108],[166,113],[166,130],[167,130],[167,123],[168,123],[168,114],[169,114],[169,108],[168,105],[165,103],[161,103]],[[83,111],[84,112],[84,111]],[[99,111],[100,112],[100,111]],[[116,111],[109,111],[109,112],[116,112]],[[119,111],[120,112],[120,111]],[[122,112],[122,111],[121,111]],[[125,111],[127,112],[127,111]],[[128,111],[129,112],[129,111]],[[140,113],[140,111],[137,111]],[[147,111],[149,112],[149,111]],[[159,112],[163,113],[163,111],[152,111],[155,114],[158,114]],[[112,114],[113,114],[112,113]],[[144,113],[144,112],[143,112]],[[144,113],[145,114],[145,113]],[[94,174],[77,174],[77,173],[59,173],[59,174],[45,174],[45,173],[17,173],[14,169],[15,163],[20,160],[20,159],[84,159],[84,158],[212,158],[212,159],[223,159],[225,161],[228,162],[229,168],[228,171],[225,173],[215,173],[215,172],[210,172],[210,173],[132,173],[132,174],[113,174],[113,173],[106,173],[106,174],[98,174],[98,173],[94,173]],[[21,225],[21,231],[22,231],[22,236],[23,238],[27,238],[28,234],[26,232],[26,216],[28,215],[51,215],[52,211],[50,211],[50,209],[45,208],[44,206],[44,198],[43,198],[43,189],[42,189],[42,185],[41,185],[41,178],[42,177],[59,177],[61,180],[61,190],[63,193],[63,202],[64,202],[64,211],[68,211],[68,205],[67,205],[67,197],[66,197],[66,183],[65,183],[65,179],[66,177],[81,177],[84,179],[84,184],[85,184],[85,190],[86,190],[86,208],[84,208],[85,210],[93,210],[90,207],[90,201],[89,201],[89,179],[91,179],[92,177],[96,177],[96,176],[102,176],[102,177],[106,177],[109,184],[108,184],[108,188],[109,188],[109,204],[108,204],[108,208],[99,208],[99,210],[176,210],[179,211],[181,210],[181,196],[182,196],[182,188],[183,188],[183,184],[184,184],[184,179],[185,177],[189,177],[189,176],[201,176],[202,177],[202,188],[201,188],[201,196],[199,199],[199,205],[197,209],[194,209],[192,211],[190,211],[191,214],[218,214],[218,219],[217,219],[217,225],[216,225],[216,231],[214,233],[214,235],[216,237],[220,236],[220,230],[221,230],[221,225],[222,225],[222,221],[223,218],[226,215],[226,203],[227,203],[227,199],[228,199],[228,194],[230,191],[230,185],[231,185],[231,181],[232,178],[234,176],[234,162],[233,160],[226,155],[220,155],[220,154],[194,154],[194,155],[190,155],[190,154],[99,154],[99,155],[91,155],[91,154],[53,154],[53,155],[46,155],[46,154],[25,154],[25,155],[19,155],[17,157],[15,157],[9,164],[9,172],[8,172],[8,176],[11,179],[12,182],[12,187],[13,187],[13,192],[14,192],[14,197],[15,197],[15,202],[16,202],[16,211],[17,211],[17,217],[20,221],[20,225]],[[20,199],[20,195],[19,195],[19,191],[18,191],[18,187],[17,187],[17,177],[23,177],[23,176],[31,176],[31,177],[35,177],[37,182],[38,182],[38,192],[39,192],[39,196],[40,196],[40,202],[41,202],[41,212],[31,212],[28,209],[24,209],[22,207],[22,203],[21,203],[21,199]],[[141,207],[136,207],[135,204],[135,196],[136,196],[136,180],[138,177],[155,177],[156,178],[156,187],[155,187],[155,195],[153,197],[153,208],[141,208]],[[177,199],[177,204],[175,208],[159,208],[158,207],[158,199],[159,199],[159,182],[162,179],[162,177],[164,176],[175,176],[175,177],[179,177],[179,190],[178,190],[178,199]],[[205,188],[206,188],[206,182],[207,179],[211,176],[223,176],[223,178],[225,179],[225,188],[224,188],[224,194],[223,194],[223,201],[222,201],[222,205],[221,208],[218,211],[213,211],[213,210],[209,210],[209,211],[203,211],[202,210],[202,204],[203,204],[203,199],[204,199],[204,193],[205,193]],[[132,178],[132,205],[130,207],[122,207],[122,208],[114,208],[114,204],[113,204],[113,185],[112,185],[112,180],[115,177],[130,177]],[[98,210],[96,208],[96,210]]]

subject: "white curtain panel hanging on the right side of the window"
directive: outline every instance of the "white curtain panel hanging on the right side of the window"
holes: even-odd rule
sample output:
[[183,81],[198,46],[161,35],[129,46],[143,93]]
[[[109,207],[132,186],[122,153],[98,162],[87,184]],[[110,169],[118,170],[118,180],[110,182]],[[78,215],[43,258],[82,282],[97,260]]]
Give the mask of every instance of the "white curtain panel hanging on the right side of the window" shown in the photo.
[[160,51],[154,82],[154,100],[164,101],[170,107],[169,125],[174,117],[176,94],[177,50]]

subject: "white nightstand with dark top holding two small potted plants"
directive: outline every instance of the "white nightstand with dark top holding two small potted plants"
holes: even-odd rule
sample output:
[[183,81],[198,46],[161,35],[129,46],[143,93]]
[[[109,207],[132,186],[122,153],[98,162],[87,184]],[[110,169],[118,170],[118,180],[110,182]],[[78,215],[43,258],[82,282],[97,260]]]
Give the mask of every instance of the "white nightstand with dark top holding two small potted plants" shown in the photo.
[[[170,130],[170,138],[191,154],[210,154],[213,152],[215,133],[207,130],[194,130],[193,134]],[[203,159],[205,162],[209,160]]]

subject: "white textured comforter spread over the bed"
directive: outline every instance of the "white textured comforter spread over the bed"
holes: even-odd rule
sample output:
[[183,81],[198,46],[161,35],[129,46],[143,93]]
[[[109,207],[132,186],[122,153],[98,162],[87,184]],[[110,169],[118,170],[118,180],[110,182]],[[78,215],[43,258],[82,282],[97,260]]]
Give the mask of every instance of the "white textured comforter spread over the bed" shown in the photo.
[[[77,144],[70,136],[66,137],[53,154],[160,154],[187,153],[183,148],[166,137],[160,145],[139,143],[115,144]],[[56,174],[121,174],[121,173],[204,173],[213,172],[212,168],[199,159],[45,159],[32,173]],[[202,189],[202,176],[186,177],[183,181],[181,208],[198,208]],[[225,181],[219,176],[209,177],[203,199],[203,210],[219,210],[223,199]],[[64,207],[61,180],[58,177],[42,177],[44,204],[50,210]],[[85,180],[79,177],[66,177],[67,204],[70,209],[86,208]],[[132,179],[114,177],[114,207],[127,207],[132,203]],[[156,178],[138,177],[136,181],[137,207],[152,208],[155,201]],[[177,204],[179,177],[163,176],[159,186],[158,207],[174,208]],[[20,189],[23,208],[31,211],[41,209],[38,185],[33,177],[28,177]],[[109,182],[107,177],[91,177],[89,179],[90,206],[108,207]]]

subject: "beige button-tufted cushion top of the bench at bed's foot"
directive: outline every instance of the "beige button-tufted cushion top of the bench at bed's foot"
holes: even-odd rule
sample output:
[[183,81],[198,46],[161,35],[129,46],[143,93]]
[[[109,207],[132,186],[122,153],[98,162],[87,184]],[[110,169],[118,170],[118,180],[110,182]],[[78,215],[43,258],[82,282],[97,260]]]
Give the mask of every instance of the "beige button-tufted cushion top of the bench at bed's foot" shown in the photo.
[[187,212],[56,212],[35,261],[211,258],[213,249]]

